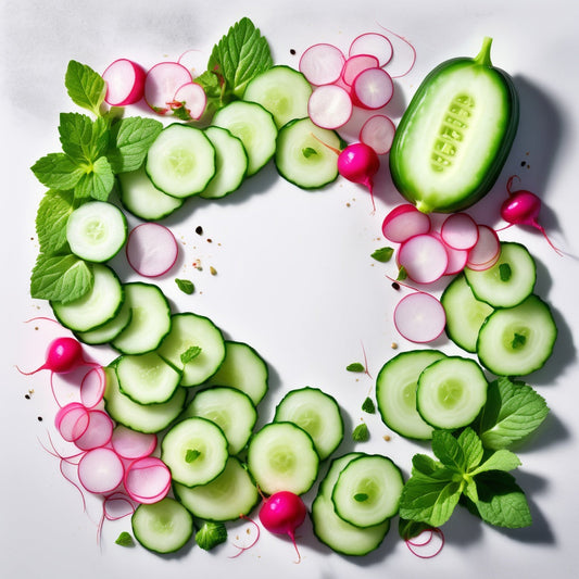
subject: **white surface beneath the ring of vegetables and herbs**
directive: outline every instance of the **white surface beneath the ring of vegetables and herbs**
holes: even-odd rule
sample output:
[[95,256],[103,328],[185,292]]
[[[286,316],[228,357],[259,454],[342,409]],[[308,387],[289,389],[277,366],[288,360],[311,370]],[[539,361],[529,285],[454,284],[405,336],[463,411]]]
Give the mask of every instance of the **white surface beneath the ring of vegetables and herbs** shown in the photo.
[[[554,356],[528,379],[551,407],[546,423],[518,451],[523,466],[516,477],[530,501],[531,528],[500,531],[457,511],[444,527],[444,550],[430,561],[407,551],[395,525],[377,552],[354,559],[320,545],[312,538],[309,523],[300,530],[303,561],[299,566],[291,544],[266,532],[257,546],[238,558],[228,558],[237,552],[230,543],[210,554],[192,547],[160,557],[141,547],[114,544],[118,532],[128,530],[128,519],[106,523],[98,546],[93,523],[98,503],[89,503],[90,516],[83,513],[78,492],[60,475],[58,461],[42,450],[39,441],[47,443],[54,415],[48,374],[26,378],[14,364],[39,365],[51,329],[50,324],[40,324],[39,331],[33,324],[23,324],[34,315],[50,314],[46,303],[28,297],[37,252],[34,218],[43,192],[28,167],[59,150],[59,113],[76,110],[64,90],[67,62],[76,59],[103,71],[121,56],[149,66],[188,49],[207,54],[243,15],[268,38],[276,63],[297,65],[299,54],[314,42],[347,49],[357,34],[379,32],[380,24],[407,37],[418,60],[413,74],[397,81],[392,104],[397,121],[432,66],[456,55],[474,55],[483,36],[494,38],[493,62],[514,76],[521,121],[496,187],[471,214],[492,224],[506,194],[506,177],[518,173],[523,186],[543,198],[542,221],[569,253],[558,257],[540,235],[527,229],[512,228],[502,235],[528,244],[538,259],[538,292],[553,305],[559,326]],[[130,575],[144,579],[229,574],[260,579],[275,574],[281,579],[298,574],[312,578],[383,574],[406,578],[419,572],[431,578],[533,578],[553,572],[575,577],[579,514],[576,2],[4,0],[0,17],[4,218],[0,568],[4,577]],[[528,166],[521,167],[521,162]],[[178,273],[191,277],[198,292],[181,294],[172,277],[162,281],[163,288],[176,309],[209,315],[227,337],[251,343],[267,360],[270,392],[262,405],[262,421],[270,418],[284,391],[310,385],[335,394],[351,429],[361,419],[360,404],[372,388],[366,376],[344,372],[348,363],[362,358],[361,342],[373,375],[393,354],[392,341],[410,348],[392,325],[398,294],[385,274],[393,274],[393,266],[369,257],[386,244],[380,239],[381,219],[399,201],[386,165],[377,182],[375,215],[369,197],[354,185],[340,180],[326,191],[304,192],[268,167],[230,200],[193,202],[189,214],[180,212],[169,219],[184,243]],[[194,234],[197,225],[202,225],[204,238]],[[191,266],[198,259],[203,272]],[[209,274],[210,265],[216,276]],[[436,345],[452,351],[445,340]],[[35,390],[32,400],[24,397],[28,389]],[[385,442],[388,431],[379,419],[366,419],[372,440],[360,450],[387,453],[407,474],[411,455],[421,449],[397,436]],[[351,448],[347,441],[340,450]],[[242,536],[244,528],[231,530],[230,541]]]

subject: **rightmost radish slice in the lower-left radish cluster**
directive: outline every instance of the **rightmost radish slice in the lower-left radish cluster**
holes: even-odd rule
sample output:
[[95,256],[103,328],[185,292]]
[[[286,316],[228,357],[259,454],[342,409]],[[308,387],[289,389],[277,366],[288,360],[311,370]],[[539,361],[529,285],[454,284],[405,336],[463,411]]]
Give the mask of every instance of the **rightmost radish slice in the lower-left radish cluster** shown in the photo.
[[171,471],[161,458],[147,456],[127,467],[124,482],[128,495],[134,501],[156,503],[171,489]]

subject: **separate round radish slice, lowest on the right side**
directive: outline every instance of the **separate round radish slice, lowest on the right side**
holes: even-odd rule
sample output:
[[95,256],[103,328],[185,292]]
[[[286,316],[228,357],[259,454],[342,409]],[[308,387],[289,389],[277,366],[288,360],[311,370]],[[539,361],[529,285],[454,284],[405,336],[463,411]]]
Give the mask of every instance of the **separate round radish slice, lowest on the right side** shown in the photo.
[[416,343],[436,340],[446,324],[440,301],[423,291],[408,293],[394,309],[394,325],[400,335]]

